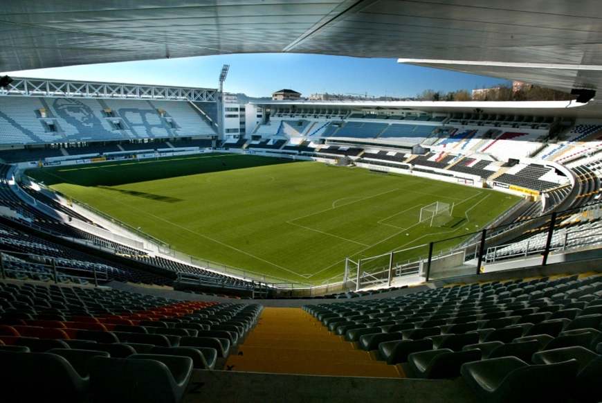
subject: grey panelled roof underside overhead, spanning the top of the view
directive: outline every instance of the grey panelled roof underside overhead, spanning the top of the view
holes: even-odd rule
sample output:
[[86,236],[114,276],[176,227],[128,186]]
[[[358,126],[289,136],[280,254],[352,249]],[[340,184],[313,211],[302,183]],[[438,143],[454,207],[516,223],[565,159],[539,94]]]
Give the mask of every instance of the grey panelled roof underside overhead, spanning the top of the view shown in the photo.
[[3,71],[296,52],[401,57],[564,90],[602,88],[596,0],[7,0],[2,6]]

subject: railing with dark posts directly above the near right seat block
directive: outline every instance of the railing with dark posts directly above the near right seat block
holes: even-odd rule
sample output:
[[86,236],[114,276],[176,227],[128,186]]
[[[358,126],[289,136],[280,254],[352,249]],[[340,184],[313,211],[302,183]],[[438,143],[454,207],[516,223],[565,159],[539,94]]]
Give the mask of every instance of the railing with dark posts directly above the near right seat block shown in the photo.
[[[347,258],[344,281],[349,288],[359,290],[374,285],[390,286],[394,279],[408,275],[418,274],[428,281],[481,274],[485,269],[495,269],[491,267],[495,263],[518,259],[522,264],[522,260],[533,256],[539,258],[530,262],[530,265],[545,266],[556,254],[602,245],[602,202],[520,223],[520,233],[511,242],[498,242],[498,234],[507,227],[516,228],[516,223],[456,235],[358,261]],[[518,251],[513,252],[512,248]]]

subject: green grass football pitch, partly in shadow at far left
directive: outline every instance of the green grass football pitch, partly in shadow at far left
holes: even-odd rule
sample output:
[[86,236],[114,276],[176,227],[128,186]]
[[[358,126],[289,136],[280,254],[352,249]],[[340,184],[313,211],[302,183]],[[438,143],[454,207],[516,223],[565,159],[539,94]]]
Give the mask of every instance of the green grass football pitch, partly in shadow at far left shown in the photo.
[[[347,256],[473,232],[518,201],[408,175],[237,154],[26,173],[176,250],[311,284],[342,276]],[[420,208],[436,201],[455,203],[454,219],[419,224]]]

